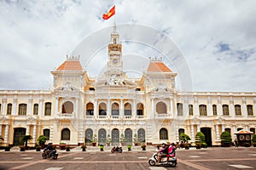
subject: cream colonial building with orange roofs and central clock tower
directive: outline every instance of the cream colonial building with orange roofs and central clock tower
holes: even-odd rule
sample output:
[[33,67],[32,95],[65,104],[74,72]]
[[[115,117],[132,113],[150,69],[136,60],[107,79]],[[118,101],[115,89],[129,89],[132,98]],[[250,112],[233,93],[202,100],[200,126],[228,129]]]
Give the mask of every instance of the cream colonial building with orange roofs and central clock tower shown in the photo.
[[79,57],[67,57],[53,75],[52,90],[0,90],[2,146],[20,144],[31,135],[35,145],[44,134],[54,144],[90,144],[96,136],[105,144],[126,144],[134,137],[146,144],[177,142],[186,133],[206,135],[208,145],[219,145],[220,134],[233,139],[241,129],[255,133],[256,93],[180,92],[177,73],[161,59],[150,59],[139,79],[123,71],[122,44],[113,30],[108,45],[108,67],[102,77],[91,78]]

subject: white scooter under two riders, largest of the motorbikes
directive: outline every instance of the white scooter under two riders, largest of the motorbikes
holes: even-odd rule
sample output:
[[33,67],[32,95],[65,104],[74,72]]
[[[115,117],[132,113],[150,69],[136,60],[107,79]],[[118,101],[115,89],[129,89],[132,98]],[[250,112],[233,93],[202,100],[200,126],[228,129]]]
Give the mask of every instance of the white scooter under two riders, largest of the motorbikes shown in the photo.
[[[177,158],[176,156],[172,157],[170,155],[169,159],[167,161],[167,157],[163,157],[160,161],[160,164],[158,166],[169,166],[169,167],[176,167],[177,166]],[[150,166],[157,166],[156,162],[158,161],[158,153],[154,153],[152,157],[148,159],[148,164]]]

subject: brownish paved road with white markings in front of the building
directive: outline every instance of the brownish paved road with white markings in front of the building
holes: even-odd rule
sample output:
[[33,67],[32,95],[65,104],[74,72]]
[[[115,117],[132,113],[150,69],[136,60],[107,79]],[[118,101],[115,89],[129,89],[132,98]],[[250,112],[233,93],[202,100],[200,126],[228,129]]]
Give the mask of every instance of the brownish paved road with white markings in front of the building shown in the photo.
[[0,168],[2,169],[182,169],[182,170],[219,170],[219,169],[256,169],[256,148],[208,148],[201,150],[177,150],[177,167],[150,167],[148,158],[152,150],[132,150],[124,153],[110,153],[97,150],[82,152],[60,151],[57,160],[43,160],[42,152],[10,151],[0,152]]

